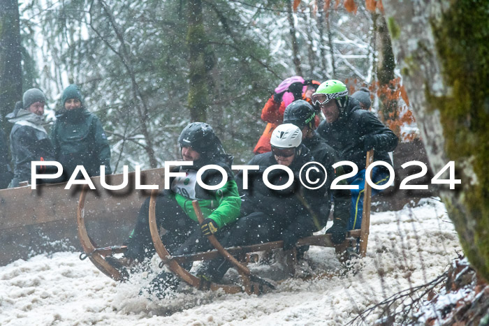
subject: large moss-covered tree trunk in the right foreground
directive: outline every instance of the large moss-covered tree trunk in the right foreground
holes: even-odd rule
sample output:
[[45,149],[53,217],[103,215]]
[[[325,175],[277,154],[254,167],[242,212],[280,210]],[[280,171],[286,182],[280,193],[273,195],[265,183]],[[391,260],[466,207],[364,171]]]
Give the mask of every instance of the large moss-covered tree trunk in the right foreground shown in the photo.
[[489,2],[384,0],[393,49],[430,164],[472,266],[489,281]]

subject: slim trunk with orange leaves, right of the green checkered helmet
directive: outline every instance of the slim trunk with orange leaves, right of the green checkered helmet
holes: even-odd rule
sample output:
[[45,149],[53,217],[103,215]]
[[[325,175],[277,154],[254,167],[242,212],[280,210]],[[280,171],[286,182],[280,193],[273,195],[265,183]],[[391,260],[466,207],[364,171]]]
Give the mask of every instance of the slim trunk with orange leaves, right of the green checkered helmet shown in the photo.
[[[375,44],[377,46],[377,79],[381,93],[379,96],[379,113],[381,120],[397,120],[397,100],[390,96],[395,90],[393,80],[395,78],[395,58],[392,50],[391,36],[387,28],[386,18],[383,15],[374,13]],[[399,128],[399,127],[397,127]],[[396,135],[400,130],[394,131]]]

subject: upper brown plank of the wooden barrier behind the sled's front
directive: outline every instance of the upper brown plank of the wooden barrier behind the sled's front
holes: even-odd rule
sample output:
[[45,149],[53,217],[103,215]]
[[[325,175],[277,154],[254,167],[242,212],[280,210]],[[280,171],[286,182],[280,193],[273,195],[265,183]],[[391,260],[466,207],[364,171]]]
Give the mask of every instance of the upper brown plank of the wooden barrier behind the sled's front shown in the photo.
[[[141,183],[157,184],[163,188],[163,171],[163,168],[141,171]],[[149,191],[136,191],[135,172],[130,172],[128,176],[128,186],[120,191],[106,190],[101,186],[100,177],[91,178],[96,190],[87,193],[87,202],[91,202],[87,209],[90,209],[93,218],[108,214],[119,216],[128,209],[131,212],[127,214],[137,215]],[[107,183],[121,184],[122,174],[108,175]],[[76,215],[82,186],[73,185],[69,190],[65,186],[66,183],[41,184],[35,190],[31,186],[0,190],[0,230],[72,219]]]

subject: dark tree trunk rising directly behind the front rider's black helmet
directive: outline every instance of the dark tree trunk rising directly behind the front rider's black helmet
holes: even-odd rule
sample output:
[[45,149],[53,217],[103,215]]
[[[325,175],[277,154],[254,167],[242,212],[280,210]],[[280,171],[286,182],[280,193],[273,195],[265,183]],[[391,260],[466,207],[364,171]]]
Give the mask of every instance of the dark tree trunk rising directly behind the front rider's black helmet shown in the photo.
[[202,1],[188,2],[189,27],[189,108],[192,121],[206,121],[207,118],[207,80],[205,67],[205,31],[202,15]]

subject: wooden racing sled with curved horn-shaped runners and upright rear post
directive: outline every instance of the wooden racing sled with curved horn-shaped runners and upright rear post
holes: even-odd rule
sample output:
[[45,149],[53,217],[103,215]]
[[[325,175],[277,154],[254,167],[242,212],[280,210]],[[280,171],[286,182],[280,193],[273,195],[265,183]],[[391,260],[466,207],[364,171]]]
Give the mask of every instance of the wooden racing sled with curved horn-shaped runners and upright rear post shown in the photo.
[[[367,162],[366,167],[372,163],[373,151],[367,152]],[[78,222],[78,236],[80,238],[80,243],[84,253],[80,255],[80,258],[89,258],[94,265],[103,272],[103,274],[109,276],[116,281],[122,281],[126,279],[119,269],[110,265],[110,263],[105,260],[105,256],[110,256],[113,253],[122,253],[126,250],[124,246],[112,246],[97,248],[96,244],[92,241],[87,233],[87,228],[85,227],[85,195],[87,193],[87,186],[85,186],[80,194],[80,200],[78,201],[78,212],[77,212],[77,222]],[[194,262],[198,260],[212,260],[221,256],[221,253],[217,249],[212,251],[206,251],[203,253],[192,253],[186,255],[170,255],[166,250],[161,238],[159,237],[159,230],[156,225],[156,195],[158,191],[152,191],[150,202],[149,202],[149,230],[151,231],[152,241],[154,243],[154,248],[156,253],[163,261],[165,265],[168,266],[171,272],[176,274],[180,279],[188,283],[190,286],[197,288],[199,290],[223,290],[226,293],[238,293],[247,292],[248,294],[260,294],[266,291],[266,287],[262,284],[250,281],[249,277],[243,271],[241,272],[243,280],[245,281],[244,286],[238,285],[224,285],[219,283],[213,283],[200,279],[192,274],[190,274],[186,269],[184,269],[180,264],[184,262]],[[333,247],[341,258],[345,258],[344,253],[349,247],[355,248],[361,256],[365,257],[367,250],[367,240],[370,228],[370,194],[371,189],[368,184],[365,184],[365,197],[363,204],[363,220],[360,229],[350,230],[346,235],[346,239],[342,244],[333,244],[331,241],[331,235],[312,235],[310,237],[305,237],[299,239],[295,246],[323,246],[323,247]],[[226,249],[226,252],[232,256],[242,256],[247,253],[255,253],[258,251],[270,251],[272,249],[281,249],[284,246],[283,241],[268,242],[264,244],[253,244],[249,246],[236,246],[233,248]],[[242,267],[241,267],[242,269]]]

